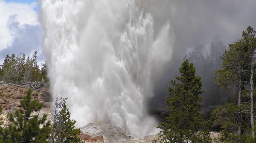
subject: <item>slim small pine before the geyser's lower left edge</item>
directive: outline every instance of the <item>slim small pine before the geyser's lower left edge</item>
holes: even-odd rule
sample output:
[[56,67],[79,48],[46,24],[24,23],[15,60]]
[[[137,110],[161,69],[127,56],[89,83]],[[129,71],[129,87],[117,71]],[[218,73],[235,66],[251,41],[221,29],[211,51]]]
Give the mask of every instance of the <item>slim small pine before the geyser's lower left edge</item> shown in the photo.
[[70,112],[65,102],[60,104],[60,111],[57,112],[54,127],[54,143],[82,143],[77,137],[80,129],[75,129],[76,121],[70,120]]

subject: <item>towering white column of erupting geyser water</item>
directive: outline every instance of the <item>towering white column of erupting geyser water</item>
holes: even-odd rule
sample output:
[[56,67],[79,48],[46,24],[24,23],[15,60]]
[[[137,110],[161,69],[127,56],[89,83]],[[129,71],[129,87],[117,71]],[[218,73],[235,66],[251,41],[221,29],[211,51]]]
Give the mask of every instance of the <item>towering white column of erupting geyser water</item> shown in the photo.
[[171,59],[168,20],[154,31],[153,17],[135,0],[42,0],[41,14],[52,95],[69,98],[77,126],[155,133],[145,102],[154,95],[152,71]]

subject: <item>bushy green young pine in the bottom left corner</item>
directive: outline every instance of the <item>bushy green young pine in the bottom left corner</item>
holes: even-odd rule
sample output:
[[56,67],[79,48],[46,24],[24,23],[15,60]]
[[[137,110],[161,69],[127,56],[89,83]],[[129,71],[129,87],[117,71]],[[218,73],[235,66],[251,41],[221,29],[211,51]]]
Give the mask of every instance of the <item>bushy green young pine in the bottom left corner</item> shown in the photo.
[[8,127],[0,129],[0,143],[49,143],[50,122],[47,115],[43,117],[32,115],[38,112],[43,104],[32,100],[32,90],[20,101],[20,109],[15,114],[9,114]]

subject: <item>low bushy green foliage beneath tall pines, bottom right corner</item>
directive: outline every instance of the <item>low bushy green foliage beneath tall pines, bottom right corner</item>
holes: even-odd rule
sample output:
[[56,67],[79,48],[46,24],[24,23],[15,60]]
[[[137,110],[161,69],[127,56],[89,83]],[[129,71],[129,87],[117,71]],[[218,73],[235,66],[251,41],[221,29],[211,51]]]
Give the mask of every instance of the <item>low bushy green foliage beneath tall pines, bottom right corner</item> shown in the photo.
[[[212,112],[213,122],[221,125],[222,130],[220,131],[219,140],[222,143],[255,143],[256,137],[252,138],[250,134],[248,109],[248,104],[242,104],[238,107],[235,103],[227,103],[223,106],[218,106]],[[240,138],[238,134],[239,113],[242,114]]]

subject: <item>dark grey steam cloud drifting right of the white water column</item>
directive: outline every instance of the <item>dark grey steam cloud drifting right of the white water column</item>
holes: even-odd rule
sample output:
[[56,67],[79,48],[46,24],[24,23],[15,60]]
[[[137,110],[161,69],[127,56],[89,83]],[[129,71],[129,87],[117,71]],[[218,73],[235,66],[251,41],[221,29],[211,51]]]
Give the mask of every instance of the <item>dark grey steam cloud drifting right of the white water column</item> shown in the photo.
[[[152,72],[159,76],[153,76],[155,96],[151,99],[149,108],[165,108],[165,99],[169,95],[168,87],[171,85],[169,81],[180,75],[179,67],[184,56],[195,47],[202,45],[202,52],[206,58],[216,37],[219,37],[227,48],[228,44],[241,38],[242,31],[247,26],[256,28],[254,0],[138,0],[137,5],[152,14],[155,29],[160,29],[160,25],[169,20],[175,35],[172,60],[163,70]],[[217,67],[221,68],[221,63],[218,63]],[[201,76],[199,68],[200,66],[195,65],[198,76]],[[205,90],[203,96],[216,95],[213,89],[207,89],[214,85],[214,70],[216,69],[212,68],[202,77]],[[158,74],[159,72],[161,74]],[[218,102],[205,104],[219,105],[228,100],[227,96],[230,93],[218,87],[213,88],[224,95],[219,95],[221,99]]]

